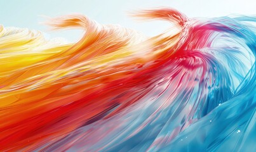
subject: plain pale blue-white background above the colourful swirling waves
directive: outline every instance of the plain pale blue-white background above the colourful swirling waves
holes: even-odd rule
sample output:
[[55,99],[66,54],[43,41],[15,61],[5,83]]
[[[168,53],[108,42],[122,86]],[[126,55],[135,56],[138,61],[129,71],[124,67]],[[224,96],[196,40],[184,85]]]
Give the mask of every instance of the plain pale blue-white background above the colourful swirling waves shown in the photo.
[[255,0],[0,0],[0,24],[4,27],[27,27],[42,30],[47,37],[65,37],[76,41],[82,32],[51,32],[39,22],[41,15],[59,16],[72,13],[87,15],[99,23],[115,23],[134,28],[146,35],[156,35],[165,30],[166,22],[140,23],[127,15],[139,8],[169,6],[182,11],[189,17],[213,17],[230,14],[253,15]]

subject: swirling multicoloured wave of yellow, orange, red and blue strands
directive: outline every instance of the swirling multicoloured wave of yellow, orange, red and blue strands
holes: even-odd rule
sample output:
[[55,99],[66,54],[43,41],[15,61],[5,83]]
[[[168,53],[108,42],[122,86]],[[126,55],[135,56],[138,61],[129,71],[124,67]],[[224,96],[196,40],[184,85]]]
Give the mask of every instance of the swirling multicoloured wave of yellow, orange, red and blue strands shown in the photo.
[[66,44],[0,27],[0,151],[256,151],[256,17],[134,16],[170,29],[52,18],[84,29]]

